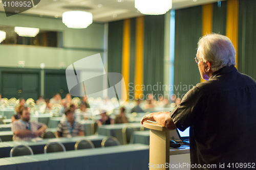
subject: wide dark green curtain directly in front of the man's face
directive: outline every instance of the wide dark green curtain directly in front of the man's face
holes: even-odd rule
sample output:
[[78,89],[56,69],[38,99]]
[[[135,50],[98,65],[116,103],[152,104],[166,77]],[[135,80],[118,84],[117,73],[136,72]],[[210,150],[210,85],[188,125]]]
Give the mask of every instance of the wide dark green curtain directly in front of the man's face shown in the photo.
[[[174,94],[177,98],[200,83],[194,58],[202,35],[202,6],[175,11]],[[190,86],[189,86],[190,85]]]

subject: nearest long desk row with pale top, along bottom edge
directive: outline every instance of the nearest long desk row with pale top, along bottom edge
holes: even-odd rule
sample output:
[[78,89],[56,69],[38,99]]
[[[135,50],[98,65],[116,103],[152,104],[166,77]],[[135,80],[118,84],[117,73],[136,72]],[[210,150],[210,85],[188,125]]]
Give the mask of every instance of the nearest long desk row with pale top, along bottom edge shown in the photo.
[[148,169],[149,147],[143,144],[119,145],[31,156],[0,158],[0,169]]

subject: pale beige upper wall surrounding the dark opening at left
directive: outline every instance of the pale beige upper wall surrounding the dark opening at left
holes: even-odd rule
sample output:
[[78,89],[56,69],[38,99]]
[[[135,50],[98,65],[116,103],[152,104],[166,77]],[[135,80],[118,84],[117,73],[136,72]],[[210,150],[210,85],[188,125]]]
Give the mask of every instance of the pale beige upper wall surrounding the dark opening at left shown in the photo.
[[84,48],[67,50],[30,45],[0,45],[0,67],[16,67],[18,61],[25,61],[27,68],[39,68],[40,63],[45,63],[45,68],[58,69],[61,62],[69,66],[79,59],[97,53],[103,56],[104,23],[93,23],[86,29],[69,29],[59,18],[21,14],[6,17],[5,13],[0,13],[0,25],[62,31],[63,47]]

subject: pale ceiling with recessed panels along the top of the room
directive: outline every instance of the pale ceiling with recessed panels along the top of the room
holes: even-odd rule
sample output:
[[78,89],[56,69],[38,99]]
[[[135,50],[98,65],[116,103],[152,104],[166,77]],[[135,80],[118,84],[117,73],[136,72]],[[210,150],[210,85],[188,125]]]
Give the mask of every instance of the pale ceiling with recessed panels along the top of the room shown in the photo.
[[[187,8],[217,1],[173,0],[172,9]],[[91,12],[95,22],[109,22],[143,15],[134,7],[134,0],[40,0],[36,8],[29,9],[23,14],[61,18],[63,12],[70,10]],[[4,11],[2,2],[0,3],[0,11]]]

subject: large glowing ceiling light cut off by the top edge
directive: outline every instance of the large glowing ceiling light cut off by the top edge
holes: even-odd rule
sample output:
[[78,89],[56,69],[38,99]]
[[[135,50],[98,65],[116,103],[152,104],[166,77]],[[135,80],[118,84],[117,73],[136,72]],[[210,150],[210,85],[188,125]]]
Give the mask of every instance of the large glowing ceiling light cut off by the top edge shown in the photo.
[[135,0],[135,8],[142,14],[162,15],[172,8],[172,0]]

